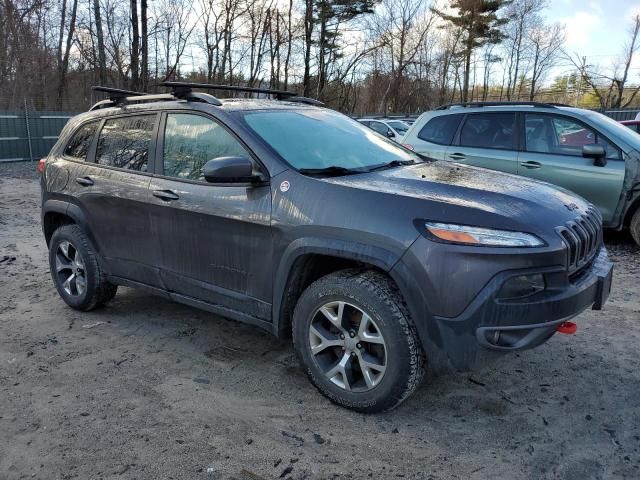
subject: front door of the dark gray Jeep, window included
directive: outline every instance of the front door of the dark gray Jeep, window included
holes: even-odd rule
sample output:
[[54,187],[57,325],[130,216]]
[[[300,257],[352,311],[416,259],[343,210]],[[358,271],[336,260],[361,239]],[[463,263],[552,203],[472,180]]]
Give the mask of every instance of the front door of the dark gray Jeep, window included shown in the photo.
[[[159,176],[150,185],[151,233],[162,249],[165,286],[261,319],[271,315],[271,189],[210,184],[202,167],[223,156],[251,157],[212,118],[164,114]],[[256,168],[259,167],[256,163]]]

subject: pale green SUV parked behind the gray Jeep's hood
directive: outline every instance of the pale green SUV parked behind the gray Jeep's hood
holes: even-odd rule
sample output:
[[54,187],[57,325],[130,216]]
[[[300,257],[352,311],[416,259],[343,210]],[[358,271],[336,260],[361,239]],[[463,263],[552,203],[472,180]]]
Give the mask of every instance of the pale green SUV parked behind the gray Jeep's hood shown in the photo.
[[452,104],[402,143],[430,157],[553,183],[598,207],[640,245],[640,135],[600,113],[536,102]]

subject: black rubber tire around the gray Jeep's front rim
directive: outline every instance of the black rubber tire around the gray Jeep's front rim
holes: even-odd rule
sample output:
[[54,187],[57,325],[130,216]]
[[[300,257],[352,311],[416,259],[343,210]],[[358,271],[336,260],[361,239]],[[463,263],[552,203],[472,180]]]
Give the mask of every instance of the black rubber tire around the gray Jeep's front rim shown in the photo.
[[[366,312],[377,324],[386,344],[386,371],[368,391],[347,391],[332,383],[316,364],[309,328],[314,313],[327,302],[344,301]],[[363,413],[391,410],[418,387],[425,372],[425,355],[406,304],[395,284],[369,270],[342,270],[312,283],[293,312],[293,340],[305,372],[332,402]]]

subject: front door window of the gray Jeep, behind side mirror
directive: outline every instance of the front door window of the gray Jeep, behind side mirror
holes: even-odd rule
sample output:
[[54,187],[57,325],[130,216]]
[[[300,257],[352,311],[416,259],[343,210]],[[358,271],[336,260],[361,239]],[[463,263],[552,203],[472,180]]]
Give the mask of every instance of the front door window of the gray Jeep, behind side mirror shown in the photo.
[[220,124],[188,113],[167,115],[163,150],[164,174],[190,180],[204,180],[202,167],[213,158],[249,156]]

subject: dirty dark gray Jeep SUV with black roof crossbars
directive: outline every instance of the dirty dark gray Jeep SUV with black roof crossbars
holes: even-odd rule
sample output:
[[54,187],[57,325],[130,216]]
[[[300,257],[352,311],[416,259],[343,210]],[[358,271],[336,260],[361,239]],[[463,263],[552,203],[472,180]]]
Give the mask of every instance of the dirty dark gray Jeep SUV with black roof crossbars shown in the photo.
[[602,219],[548,184],[432,161],[286,92],[112,93],[43,162],[54,283],[118,285],[293,337],[314,385],[364,412],[425,368],[470,369],[600,309]]

